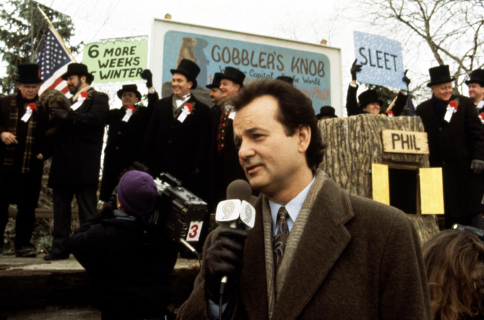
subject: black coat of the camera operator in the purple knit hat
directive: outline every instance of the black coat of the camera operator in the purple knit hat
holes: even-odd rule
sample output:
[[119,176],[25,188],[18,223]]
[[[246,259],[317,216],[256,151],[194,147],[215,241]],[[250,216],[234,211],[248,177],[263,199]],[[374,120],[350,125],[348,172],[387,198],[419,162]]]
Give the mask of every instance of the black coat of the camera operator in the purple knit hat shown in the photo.
[[177,246],[154,224],[129,217],[105,209],[76,230],[69,249],[91,277],[102,312],[126,319],[160,316],[171,300]]

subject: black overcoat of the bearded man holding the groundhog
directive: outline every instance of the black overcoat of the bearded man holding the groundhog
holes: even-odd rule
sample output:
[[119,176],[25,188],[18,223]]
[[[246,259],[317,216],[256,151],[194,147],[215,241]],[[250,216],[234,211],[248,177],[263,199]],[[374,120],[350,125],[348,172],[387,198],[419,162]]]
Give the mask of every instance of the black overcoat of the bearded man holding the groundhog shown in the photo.
[[53,139],[49,187],[98,184],[101,150],[109,111],[108,97],[89,89],[84,103],[58,125]]

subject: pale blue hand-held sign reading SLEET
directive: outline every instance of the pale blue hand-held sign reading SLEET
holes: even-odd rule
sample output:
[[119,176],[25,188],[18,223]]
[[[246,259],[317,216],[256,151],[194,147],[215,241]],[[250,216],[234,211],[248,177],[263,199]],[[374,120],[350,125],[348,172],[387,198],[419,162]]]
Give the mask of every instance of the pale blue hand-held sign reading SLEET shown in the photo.
[[407,89],[401,43],[370,33],[354,31],[354,56],[361,72],[358,81],[372,85]]

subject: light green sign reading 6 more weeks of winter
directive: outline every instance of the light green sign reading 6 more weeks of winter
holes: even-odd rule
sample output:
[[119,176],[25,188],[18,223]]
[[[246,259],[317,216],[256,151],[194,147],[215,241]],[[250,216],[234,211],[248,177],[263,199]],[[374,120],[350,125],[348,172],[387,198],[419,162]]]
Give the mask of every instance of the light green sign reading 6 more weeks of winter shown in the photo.
[[82,55],[94,83],[119,83],[141,80],[148,65],[146,37],[111,39],[84,46]]

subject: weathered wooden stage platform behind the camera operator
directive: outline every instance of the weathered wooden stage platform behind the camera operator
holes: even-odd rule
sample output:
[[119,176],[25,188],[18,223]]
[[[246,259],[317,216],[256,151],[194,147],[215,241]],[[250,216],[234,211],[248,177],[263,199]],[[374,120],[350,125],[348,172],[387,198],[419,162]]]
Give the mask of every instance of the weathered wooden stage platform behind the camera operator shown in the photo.
[[[179,258],[171,275],[172,304],[185,301],[199,272],[198,260]],[[45,309],[92,305],[92,286],[84,268],[71,254],[68,260],[0,255],[0,310]],[[1,315],[1,314],[0,314]]]

